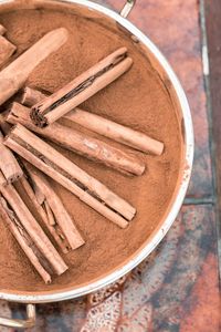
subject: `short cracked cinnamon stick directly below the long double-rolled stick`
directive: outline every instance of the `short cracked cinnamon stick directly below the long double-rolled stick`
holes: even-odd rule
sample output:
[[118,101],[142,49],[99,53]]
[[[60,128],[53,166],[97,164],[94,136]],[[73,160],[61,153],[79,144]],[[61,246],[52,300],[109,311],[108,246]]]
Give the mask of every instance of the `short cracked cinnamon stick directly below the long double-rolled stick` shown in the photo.
[[85,241],[74,226],[74,222],[62,200],[49,184],[46,177],[27,162],[24,162],[24,167],[28,170],[34,189],[38,188],[38,190],[45,197],[41,205],[42,208],[45,208],[44,210],[48,217],[45,225],[62,248],[63,252],[69,252],[70,250],[82,247]]

